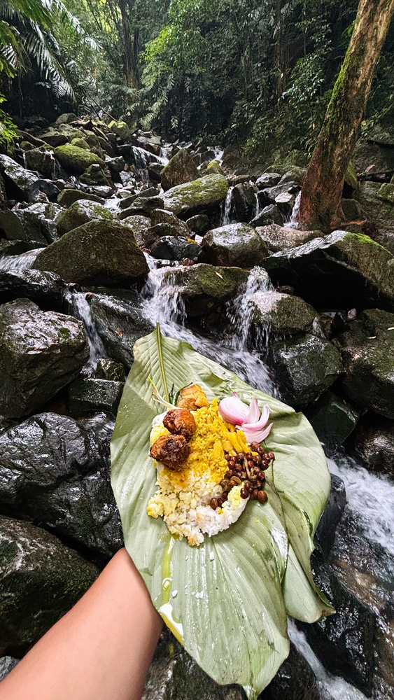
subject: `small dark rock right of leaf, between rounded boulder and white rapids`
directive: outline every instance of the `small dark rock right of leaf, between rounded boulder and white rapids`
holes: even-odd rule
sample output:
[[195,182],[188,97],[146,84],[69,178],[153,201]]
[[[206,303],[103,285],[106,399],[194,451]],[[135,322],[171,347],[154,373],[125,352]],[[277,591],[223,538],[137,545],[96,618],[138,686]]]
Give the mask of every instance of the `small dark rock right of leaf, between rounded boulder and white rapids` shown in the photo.
[[307,411],[307,418],[318,438],[325,444],[338,446],[353,433],[360,417],[353,406],[339,396],[326,391]]

